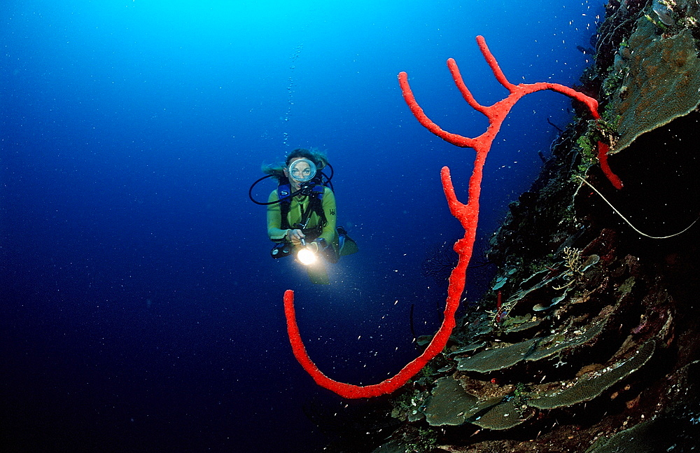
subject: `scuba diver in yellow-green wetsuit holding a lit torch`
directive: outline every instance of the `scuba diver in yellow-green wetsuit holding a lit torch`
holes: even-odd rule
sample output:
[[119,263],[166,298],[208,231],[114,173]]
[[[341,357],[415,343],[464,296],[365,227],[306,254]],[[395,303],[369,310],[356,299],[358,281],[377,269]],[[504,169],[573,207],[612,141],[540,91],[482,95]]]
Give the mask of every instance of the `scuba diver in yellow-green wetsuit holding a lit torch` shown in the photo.
[[[323,173],[325,167],[330,176]],[[267,176],[253,183],[248,196],[256,204],[267,205],[267,235],[276,242],[270,255],[294,255],[305,265],[312,282],[328,284],[328,273],[316,257],[337,263],[340,256],[358,251],[344,228],[336,226],[332,166],[323,154],[299,148],[287,156],[285,166],[263,166],[262,172]],[[267,202],[258,202],[253,198],[253,187],[269,177],[276,179],[278,186]]]

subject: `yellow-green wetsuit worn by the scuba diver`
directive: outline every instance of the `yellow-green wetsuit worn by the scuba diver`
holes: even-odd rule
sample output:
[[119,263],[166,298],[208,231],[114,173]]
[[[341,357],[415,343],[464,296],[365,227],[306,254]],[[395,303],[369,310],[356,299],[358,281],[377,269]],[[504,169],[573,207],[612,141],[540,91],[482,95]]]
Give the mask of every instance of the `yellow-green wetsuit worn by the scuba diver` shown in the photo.
[[[311,211],[309,216],[309,222],[304,229],[304,234],[307,235],[307,242],[311,242],[318,237],[323,237],[326,244],[332,246],[336,251],[338,250],[338,234],[335,230],[335,194],[333,191],[327,187],[323,188],[323,200],[321,200],[321,206],[323,207],[323,214],[325,214],[325,225],[322,225],[320,234],[318,232],[318,226],[323,223],[316,212]],[[279,195],[277,195],[277,190],[272,190],[269,194],[268,202],[275,202],[279,200]],[[293,197],[289,205],[289,213],[287,214],[287,222],[290,228],[296,223],[302,221],[302,216],[304,211],[306,211],[309,206],[309,197],[304,195],[297,195]],[[282,218],[280,203],[269,204],[267,206],[267,235],[269,239],[274,242],[286,242],[286,234],[288,230],[283,230],[282,228]]]

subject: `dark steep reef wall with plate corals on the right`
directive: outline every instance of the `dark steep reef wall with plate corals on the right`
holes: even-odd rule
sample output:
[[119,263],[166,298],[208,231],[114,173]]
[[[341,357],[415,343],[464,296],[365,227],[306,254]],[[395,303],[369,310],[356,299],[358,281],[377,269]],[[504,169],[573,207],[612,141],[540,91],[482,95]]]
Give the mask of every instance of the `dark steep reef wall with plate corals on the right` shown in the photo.
[[700,224],[672,234],[700,214],[696,18],[697,1],[610,0],[582,78],[603,132],[563,130],[491,239],[491,291],[393,396],[374,453],[695,451]]

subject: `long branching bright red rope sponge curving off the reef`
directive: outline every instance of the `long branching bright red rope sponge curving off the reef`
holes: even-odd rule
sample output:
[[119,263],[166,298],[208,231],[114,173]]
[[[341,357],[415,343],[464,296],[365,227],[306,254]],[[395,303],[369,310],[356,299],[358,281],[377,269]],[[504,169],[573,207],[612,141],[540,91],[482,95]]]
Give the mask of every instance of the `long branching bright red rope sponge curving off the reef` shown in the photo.
[[[472,257],[472,251],[474,249],[474,242],[476,239],[477,223],[479,220],[479,195],[481,195],[481,182],[482,174],[484,169],[484,163],[486,162],[486,155],[488,155],[491,150],[491,144],[493,144],[493,139],[496,138],[496,134],[500,130],[500,126],[503,125],[503,120],[510,112],[512,106],[515,105],[518,100],[524,95],[530,93],[541,91],[541,90],[552,90],[560,92],[563,95],[577,99],[578,101],[584,103],[591,116],[598,120],[600,115],[598,115],[598,102],[592,97],[588,97],[581,92],[577,92],[571,88],[568,88],[558,83],[520,83],[519,85],[513,85],[507,78],[505,74],[501,71],[496,62],[496,58],[493,57],[491,51],[486,46],[486,41],[483,36],[477,36],[477,43],[479,49],[486,59],[486,63],[491,67],[493,71],[493,76],[496,80],[503,85],[509,92],[505,99],[502,99],[496,104],[491,106],[482,106],[476,99],[472,96],[471,92],[464,84],[461,74],[459,74],[459,69],[456,62],[451,58],[447,60],[447,67],[449,68],[454,83],[462,94],[465,101],[475,109],[486,116],[489,119],[489,127],[486,131],[479,135],[479,137],[469,138],[463,137],[458,134],[453,134],[451,132],[444,131],[440,126],[433,123],[428,116],[423,112],[421,106],[416,102],[416,98],[408,84],[408,75],[405,72],[401,72],[398,75],[399,85],[401,87],[401,92],[403,98],[408,104],[409,109],[413,113],[413,116],[426,127],[430,132],[437,135],[444,141],[448,141],[455,146],[460,146],[461,148],[473,148],[476,151],[476,157],[474,161],[474,169],[472,171],[472,176],[469,179],[469,189],[468,189],[468,203],[463,204],[454,193],[454,187],[452,186],[452,181],[449,176],[449,168],[442,167],[440,172],[442,180],[442,188],[444,190],[444,195],[447,197],[447,204],[449,210],[455,218],[461,223],[464,228],[464,237],[458,239],[454,244],[454,251],[457,252],[458,261],[456,267],[452,270],[449,276],[449,287],[447,290],[447,302],[444,309],[444,319],[442,325],[435,333],[433,340],[430,341],[428,347],[423,351],[423,354],[414,358],[413,361],[409,362],[405,367],[403,367],[398,373],[393,377],[384,379],[384,381],[379,382],[379,384],[371,384],[365,386],[358,386],[353,384],[346,384],[344,382],[338,382],[330,377],[326,376],[318,369],[316,364],[311,361],[309,354],[307,354],[306,347],[304,347],[304,342],[302,341],[301,335],[299,333],[299,327],[297,326],[297,320],[294,309],[294,292],[287,290],[284,293],[284,315],[287,319],[287,333],[289,335],[289,341],[292,345],[292,351],[297,361],[302,365],[302,368],[306,370],[311,377],[314,378],[316,384],[322,386],[325,389],[334,391],[339,396],[343,398],[371,398],[374,396],[384,395],[386,393],[391,393],[400,387],[404,386],[409,379],[412,379],[420,370],[423,368],[430,359],[440,354],[442,349],[444,349],[447,341],[449,340],[449,335],[454,329],[455,320],[454,315],[459,307],[459,302],[462,298],[464,292],[465,279],[467,267],[469,261]],[[607,162],[608,158],[608,146],[598,142],[598,160],[601,162],[601,168],[603,173],[608,177],[610,182],[616,188],[622,188],[622,181],[619,180],[617,175],[612,173]]]

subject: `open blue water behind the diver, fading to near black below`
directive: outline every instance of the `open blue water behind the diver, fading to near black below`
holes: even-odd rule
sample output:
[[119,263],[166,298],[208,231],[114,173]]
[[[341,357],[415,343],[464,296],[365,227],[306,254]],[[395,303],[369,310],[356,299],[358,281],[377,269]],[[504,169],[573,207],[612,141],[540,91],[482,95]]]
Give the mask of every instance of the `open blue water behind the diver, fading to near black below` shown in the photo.
[[[245,4],[241,6],[241,4]],[[283,291],[331,377],[373,384],[439,325],[426,250],[461,236],[473,153],[402,100],[481,134],[445,60],[483,104],[513,83],[573,85],[603,1],[22,0],[0,11],[1,443],[15,452],[313,452],[309,410],[342,409],[293,358]],[[377,6],[381,5],[381,6]],[[528,188],[568,98],[525,97],[484,171],[479,250]],[[328,151],[360,253],[314,287],[269,258],[263,162]],[[274,186],[255,190],[264,199]],[[478,256],[475,256],[475,260]],[[472,281],[472,300],[488,282]],[[474,289],[477,288],[477,289]],[[480,288],[480,289],[479,289]],[[309,409],[311,407],[311,409]],[[332,417],[329,421],[332,424]],[[9,451],[9,450],[7,450]]]

